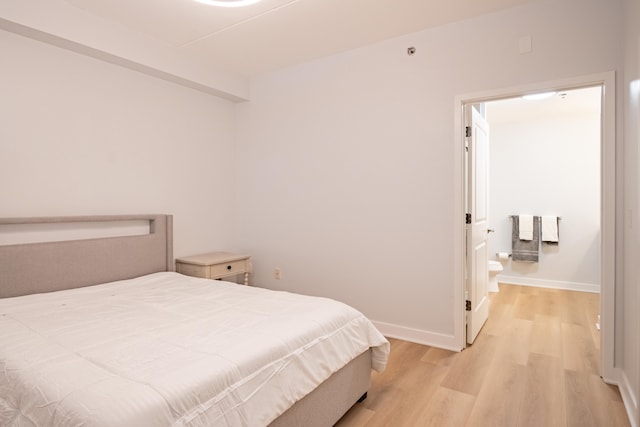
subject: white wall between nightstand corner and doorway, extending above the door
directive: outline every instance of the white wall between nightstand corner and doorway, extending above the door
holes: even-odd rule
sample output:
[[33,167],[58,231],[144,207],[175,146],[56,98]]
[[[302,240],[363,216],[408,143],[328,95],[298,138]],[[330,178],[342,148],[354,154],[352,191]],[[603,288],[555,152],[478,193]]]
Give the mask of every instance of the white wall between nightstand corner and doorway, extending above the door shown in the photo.
[[620,19],[617,1],[537,1],[253,80],[238,237],[254,280],[453,345],[455,97],[619,69]]

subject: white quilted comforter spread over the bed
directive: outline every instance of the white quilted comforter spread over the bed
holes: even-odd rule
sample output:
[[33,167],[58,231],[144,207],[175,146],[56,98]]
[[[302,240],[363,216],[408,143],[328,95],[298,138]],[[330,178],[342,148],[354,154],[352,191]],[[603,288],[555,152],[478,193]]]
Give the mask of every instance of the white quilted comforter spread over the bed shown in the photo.
[[342,303],[177,273],[0,299],[0,425],[267,425],[368,348]]

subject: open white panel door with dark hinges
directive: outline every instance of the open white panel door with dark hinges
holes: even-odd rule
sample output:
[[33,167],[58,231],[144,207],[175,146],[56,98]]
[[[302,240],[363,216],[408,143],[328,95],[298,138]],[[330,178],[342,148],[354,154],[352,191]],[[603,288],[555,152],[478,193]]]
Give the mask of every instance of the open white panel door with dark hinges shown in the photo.
[[[475,108],[465,106],[467,123],[467,343],[478,336],[489,316],[487,253],[489,125]],[[470,132],[469,132],[470,130]],[[470,214],[470,215],[469,215]]]

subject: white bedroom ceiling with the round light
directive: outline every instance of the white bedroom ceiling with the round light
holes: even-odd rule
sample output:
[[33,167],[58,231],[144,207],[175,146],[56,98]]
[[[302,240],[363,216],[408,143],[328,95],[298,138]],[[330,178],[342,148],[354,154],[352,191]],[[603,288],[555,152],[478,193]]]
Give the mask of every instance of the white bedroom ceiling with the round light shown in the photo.
[[535,0],[65,0],[244,77]]

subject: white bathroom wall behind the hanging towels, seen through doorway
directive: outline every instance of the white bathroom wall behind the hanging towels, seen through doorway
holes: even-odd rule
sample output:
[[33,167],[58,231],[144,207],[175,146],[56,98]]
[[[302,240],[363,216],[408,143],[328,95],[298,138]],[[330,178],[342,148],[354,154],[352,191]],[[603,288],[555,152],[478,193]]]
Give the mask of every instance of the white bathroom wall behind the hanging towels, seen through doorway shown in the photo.
[[[568,96],[572,96],[569,93]],[[575,95],[574,95],[575,96]],[[503,261],[500,281],[600,290],[600,113],[526,115],[505,121],[487,104],[490,129],[489,255],[511,253],[510,215],[558,215],[560,242],[538,263]],[[526,107],[525,107],[526,108]]]

